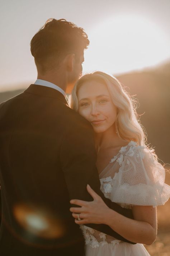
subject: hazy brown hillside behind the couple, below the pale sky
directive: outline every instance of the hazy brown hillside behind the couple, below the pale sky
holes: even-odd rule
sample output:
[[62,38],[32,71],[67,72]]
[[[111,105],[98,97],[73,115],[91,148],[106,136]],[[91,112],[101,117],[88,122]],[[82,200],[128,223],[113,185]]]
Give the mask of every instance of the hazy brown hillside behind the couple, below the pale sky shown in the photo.
[[[140,106],[137,113],[148,134],[148,143],[155,147],[156,153],[164,163],[170,163],[170,63],[159,67],[131,72],[117,76]],[[29,86],[29,84],[28,84]],[[0,93],[0,103],[24,91]]]

